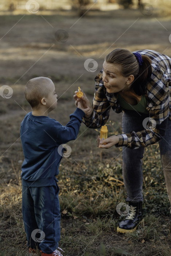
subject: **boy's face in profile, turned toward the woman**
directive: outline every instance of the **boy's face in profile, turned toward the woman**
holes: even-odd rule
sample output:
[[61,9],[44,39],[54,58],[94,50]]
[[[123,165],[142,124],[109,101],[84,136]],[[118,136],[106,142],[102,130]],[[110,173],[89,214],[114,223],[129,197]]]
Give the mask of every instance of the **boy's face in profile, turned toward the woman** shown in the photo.
[[46,97],[46,108],[48,112],[55,109],[57,106],[57,97],[58,95],[55,93],[55,86],[52,81],[49,82],[47,90],[49,91],[48,97]]

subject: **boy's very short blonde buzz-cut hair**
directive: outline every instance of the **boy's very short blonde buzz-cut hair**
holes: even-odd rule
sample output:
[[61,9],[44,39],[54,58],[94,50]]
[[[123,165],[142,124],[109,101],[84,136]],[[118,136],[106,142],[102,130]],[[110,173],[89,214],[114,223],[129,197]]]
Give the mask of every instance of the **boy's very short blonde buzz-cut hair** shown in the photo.
[[39,76],[30,79],[26,84],[24,95],[32,109],[37,109],[41,99],[43,97],[48,97],[48,84],[50,81],[50,78]]

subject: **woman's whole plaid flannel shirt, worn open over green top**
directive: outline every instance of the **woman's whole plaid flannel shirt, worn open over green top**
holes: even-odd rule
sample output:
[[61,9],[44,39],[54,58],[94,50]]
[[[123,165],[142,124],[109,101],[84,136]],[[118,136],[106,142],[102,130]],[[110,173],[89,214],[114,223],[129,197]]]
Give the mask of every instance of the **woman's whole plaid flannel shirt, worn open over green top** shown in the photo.
[[[171,58],[153,50],[137,50],[141,55],[151,59],[152,75],[145,86],[146,109],[152,126],[143,131],[120,134],[116,147],[128,148],[147,147],[161,140],[159,128],[167,117],[171,120]],[[108,93],[102,81],[102,69],[95,78],[95,93],[93,98],[93,114],[89,119],[83,117],[83,123],[89,128],[100,128],[109,118],[110,108],[116,113],[122,112],[117,99],[117,93]],[[153,128],[154,127],[154,128]]]

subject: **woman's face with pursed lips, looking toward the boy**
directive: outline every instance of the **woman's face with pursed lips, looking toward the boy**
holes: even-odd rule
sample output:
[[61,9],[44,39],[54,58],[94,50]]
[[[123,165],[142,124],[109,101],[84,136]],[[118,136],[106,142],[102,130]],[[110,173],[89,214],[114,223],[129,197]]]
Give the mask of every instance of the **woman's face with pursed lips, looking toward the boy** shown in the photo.
[[125,77],[120,72],[121,66],[119,64],[103,63],[102,80],[106,91],[108,93],[118,93],[119,91],[128,91],[131,89],[131,83],[134,76]]

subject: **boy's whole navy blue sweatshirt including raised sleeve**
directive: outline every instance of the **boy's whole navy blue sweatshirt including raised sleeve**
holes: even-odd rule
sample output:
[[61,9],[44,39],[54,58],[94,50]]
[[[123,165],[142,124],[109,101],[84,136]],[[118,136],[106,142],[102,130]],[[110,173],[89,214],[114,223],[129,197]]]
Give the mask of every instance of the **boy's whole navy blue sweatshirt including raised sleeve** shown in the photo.
[[77,138],[82,117],[85,113],[76,109],[70,121],[63,126],[47,116],[26,114],[21,123],[20,136],[23,145],[22,182],[26,187],[55,185],[59,174],[62,154],[58,147]]

